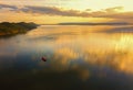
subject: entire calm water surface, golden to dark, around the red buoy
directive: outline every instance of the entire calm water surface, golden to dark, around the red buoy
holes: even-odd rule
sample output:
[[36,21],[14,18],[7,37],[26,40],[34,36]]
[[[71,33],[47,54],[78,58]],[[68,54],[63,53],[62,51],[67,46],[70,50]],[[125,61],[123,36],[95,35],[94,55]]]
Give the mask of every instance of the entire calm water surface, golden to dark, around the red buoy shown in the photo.
[[0,90],[133,90],[132,31],[45,25],[0,37]]

